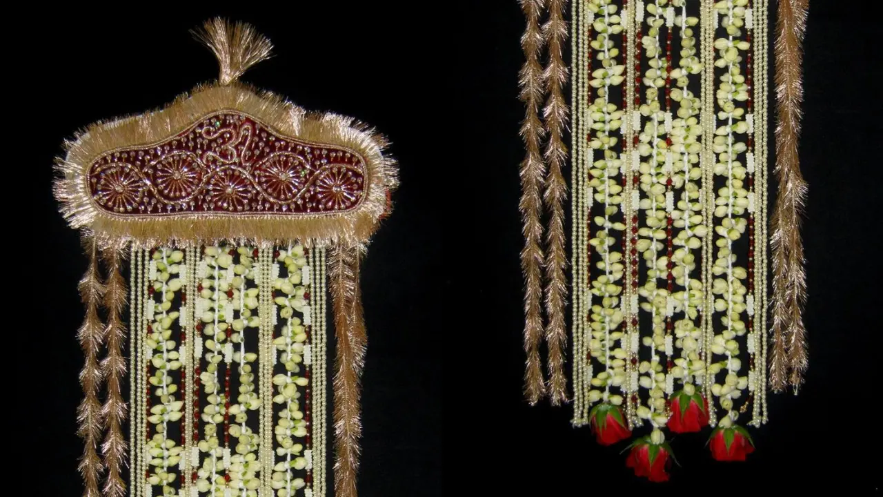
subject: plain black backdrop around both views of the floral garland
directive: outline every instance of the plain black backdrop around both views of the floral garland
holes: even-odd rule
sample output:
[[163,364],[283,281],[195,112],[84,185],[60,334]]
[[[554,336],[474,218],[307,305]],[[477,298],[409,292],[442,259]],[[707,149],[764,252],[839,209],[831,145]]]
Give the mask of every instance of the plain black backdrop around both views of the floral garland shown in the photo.
[[[6,301],[4,331],[17,344],[5,353],[20,364],[5,371],[16,390],[3,412],[7,430],[33,423],[13,430],[21,440],[7,446],[13,457],[26,454],[12,466],[21,471],[14,494],[80,493],[74,332],[86,257],[51,196],[52,159],[88,123],[153,109],[213,80],[214,57],[187,30],[215,15],[251,22],[275,43],[276,56],[243,80],[376,126],[401,164],[395,211],[362,272],[369,333],[362,495],[879,492],[872,149],[881,141],[883,73],[872,42],[878,27],[862,8],[870,4],[811,2],[801,143],[810,184],[806,386],[797,397],[771,394],[770,423],[755,433],[758,450],[746,463],[714,463],[706,434],[678,437],[672,445],[683,467],[664,485],[630,476],[623,447],[599,447],[587,429],[571,428],[569,408],[530,408],[521,397],[517,4],[120,4],[101,13],[47,6],[8,20],[22,31],[6,47],[17,64],[4,77],[19,89],[5,95],[16,107],[7,150],[17,154],[5,164],[14,176],[3,182],[4,205],[5,218],[20,226],[7,226],[4,259],[30,285],[16,284]],[[346,76],[328,71],[340,67]],[[15,311],[21,301],[25,314]],[[39,477],[26,476],[32,465]]]

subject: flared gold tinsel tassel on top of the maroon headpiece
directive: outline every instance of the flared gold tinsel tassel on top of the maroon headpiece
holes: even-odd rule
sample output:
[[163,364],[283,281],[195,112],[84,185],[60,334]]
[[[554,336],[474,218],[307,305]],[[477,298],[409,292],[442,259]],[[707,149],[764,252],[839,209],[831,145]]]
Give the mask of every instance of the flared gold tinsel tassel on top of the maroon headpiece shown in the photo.
[[222,85],[229,85],[249,67],[272,56],[273,43],[244,22],[209,19],[201,29],[195,29],[192,33],[217,57],[221,66],[218,81]]

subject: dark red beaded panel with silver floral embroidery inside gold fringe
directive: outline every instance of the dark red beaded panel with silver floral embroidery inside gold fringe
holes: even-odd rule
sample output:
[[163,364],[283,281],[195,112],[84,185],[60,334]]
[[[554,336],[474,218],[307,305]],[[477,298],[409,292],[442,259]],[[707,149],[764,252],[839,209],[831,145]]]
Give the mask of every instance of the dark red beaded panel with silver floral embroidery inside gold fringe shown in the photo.
[[365,199],[365,178],[365,159],[351,149],[283,136],[238,111],[108,152],[88,174],[99,209],[139,216],[343,212]]

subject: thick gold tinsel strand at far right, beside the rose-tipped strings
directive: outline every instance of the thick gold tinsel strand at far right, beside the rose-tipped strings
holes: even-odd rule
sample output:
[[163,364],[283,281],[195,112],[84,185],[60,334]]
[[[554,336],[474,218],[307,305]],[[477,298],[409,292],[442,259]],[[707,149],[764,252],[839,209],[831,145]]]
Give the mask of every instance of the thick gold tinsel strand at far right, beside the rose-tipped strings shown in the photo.
[[776,165],[779,195],[772,218],[773,235],[773,355],[770,385],[781,392],[786,383],[795,394],[804,381],[808,365],[806,329],[803,322],[806,302],[804,247],[800,237],[801,214],[806,199],[806,182],[800,172],[800,105],[804,89],[801,81],[801,45],[806,30],[808,0],[779,2],[775,42]]

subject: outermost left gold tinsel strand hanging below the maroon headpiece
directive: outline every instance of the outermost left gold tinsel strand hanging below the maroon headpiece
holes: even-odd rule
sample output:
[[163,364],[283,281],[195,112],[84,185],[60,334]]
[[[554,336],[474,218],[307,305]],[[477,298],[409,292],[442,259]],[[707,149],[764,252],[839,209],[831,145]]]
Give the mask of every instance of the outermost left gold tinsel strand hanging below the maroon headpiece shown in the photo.
[[79,473],[83,477],[83,497],[100,497],[102,461],[98,456],[98,442],[102,436],[102,404],[98,392],[102,384],[102,370],[98,354],[102,348],[104,325],[98,315],[98,306],[104,296],[101,273],[98,269],[98,247],[90,233],[83,234],[83,246],[89,255],[89,265],[79,280],[79,295],[86,305],[86,317],[79,327],[77,340],[83,349],[86,363],[79,373],[83,387],[83,401],[77,409],[77,434],[83,439],[83,455],[79,460]]

